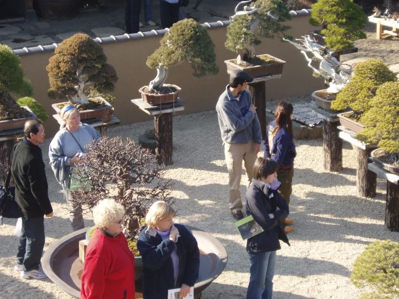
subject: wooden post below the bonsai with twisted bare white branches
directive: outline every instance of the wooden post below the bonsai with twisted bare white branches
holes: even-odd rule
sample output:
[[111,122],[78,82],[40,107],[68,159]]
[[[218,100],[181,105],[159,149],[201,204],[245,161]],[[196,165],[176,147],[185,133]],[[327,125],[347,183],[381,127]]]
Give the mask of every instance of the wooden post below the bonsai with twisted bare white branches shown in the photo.
[[342,139],[339,138],[339,122],[323,121],[324,169],[342,170]]

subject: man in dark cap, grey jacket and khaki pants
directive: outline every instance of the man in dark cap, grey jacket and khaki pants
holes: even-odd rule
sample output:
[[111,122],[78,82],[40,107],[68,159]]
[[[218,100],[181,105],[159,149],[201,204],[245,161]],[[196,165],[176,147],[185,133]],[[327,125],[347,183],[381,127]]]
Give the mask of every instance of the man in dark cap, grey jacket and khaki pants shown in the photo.
[[246,90],[253,77],[244,71],[232,71],[226,90],[216,104],[221,139],[230,186],[229,209],[235,219],[243,217],[240,195],[242,160],[248,184],[252,180],[252,167],[260,149],[262,134],[252,97]]

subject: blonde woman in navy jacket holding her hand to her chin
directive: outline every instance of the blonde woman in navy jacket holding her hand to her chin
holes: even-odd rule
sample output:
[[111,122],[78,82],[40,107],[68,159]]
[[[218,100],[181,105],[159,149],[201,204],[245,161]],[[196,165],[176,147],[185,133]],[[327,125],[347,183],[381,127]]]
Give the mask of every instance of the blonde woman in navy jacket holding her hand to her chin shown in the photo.
[[167,299],[168,290],[181,288],[186,297],[198,279],[200,251],[197,240],[181,224],[174,224],[176,211],[165,201],[148,210],[137,248],[143,261],[143,298]]

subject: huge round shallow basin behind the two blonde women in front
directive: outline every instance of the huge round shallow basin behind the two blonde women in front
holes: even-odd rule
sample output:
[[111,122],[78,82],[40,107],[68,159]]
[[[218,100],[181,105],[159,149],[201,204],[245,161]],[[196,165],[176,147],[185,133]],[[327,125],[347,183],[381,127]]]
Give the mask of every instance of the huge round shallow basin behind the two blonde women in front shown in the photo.
[[[197,296],[222,273],[227,264],[227,253],[215,237],[198,228],[186,227],[197,239],[200,248],[200,273],[194,286]],[[89,229],[83,228],[55,241],[45,251],[41,261],[47,277],[73,298],[80,298],[83,264],[79,261],[79,241],[85,239]],[[141,273],[141,267],[141,261],[135,259],[136,274]],[[141,277],[136,276],[136,292],[140,290]],[[141,296],[136,293],[136,299]]]

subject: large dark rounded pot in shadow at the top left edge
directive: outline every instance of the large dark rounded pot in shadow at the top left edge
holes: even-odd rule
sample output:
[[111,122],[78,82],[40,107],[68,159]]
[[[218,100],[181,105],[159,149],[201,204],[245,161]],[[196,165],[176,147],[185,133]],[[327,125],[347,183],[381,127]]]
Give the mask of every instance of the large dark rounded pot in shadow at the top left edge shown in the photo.
[[81,0],[34,0],[39,16],[49,20],[69,19],[79,13]]

